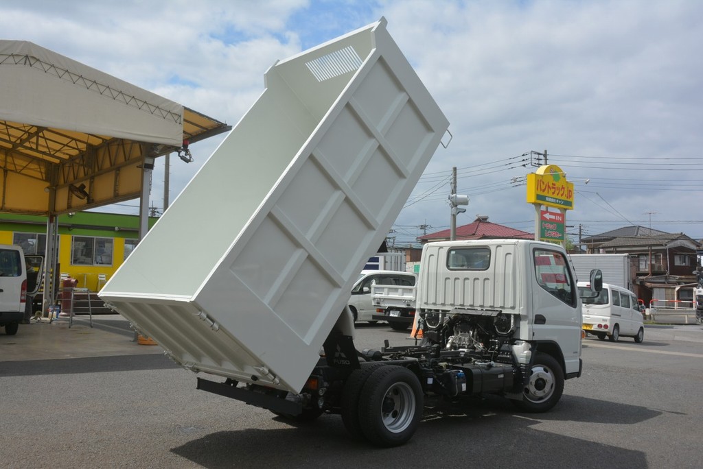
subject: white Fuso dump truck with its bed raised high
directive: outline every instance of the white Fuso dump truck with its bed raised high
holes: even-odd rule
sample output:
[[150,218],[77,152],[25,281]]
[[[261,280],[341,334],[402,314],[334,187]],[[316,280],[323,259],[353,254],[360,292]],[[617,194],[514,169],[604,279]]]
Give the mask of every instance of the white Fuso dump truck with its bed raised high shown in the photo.
[[[385,20],[265,78],[105,303],[198,373],[199,389],[284,418],[341,414],[382,447],[411,438],[427,399],[500,392],[551,407],[580,371],[581,312],[557,247],[491,246],[497,263],[471,290],[456,283],[463,272],[433,293],[426,343],[356,350],[352,286],[449,127]],[[547,289],[536,262],[555,270]]]

